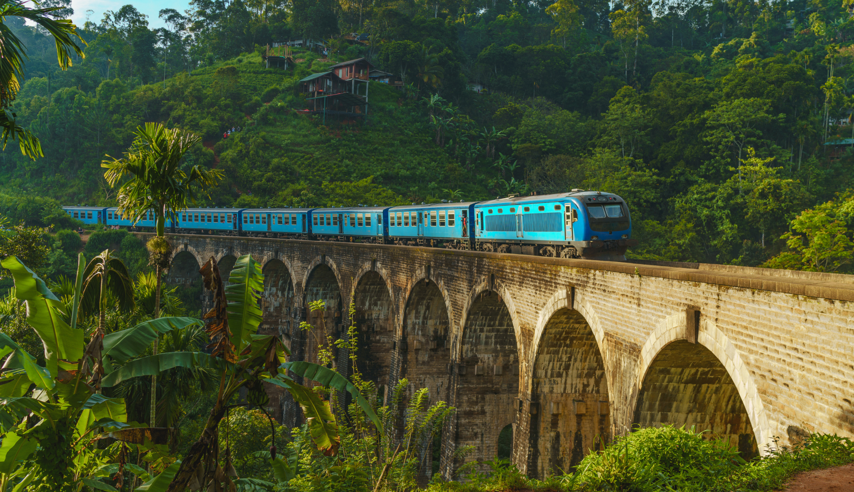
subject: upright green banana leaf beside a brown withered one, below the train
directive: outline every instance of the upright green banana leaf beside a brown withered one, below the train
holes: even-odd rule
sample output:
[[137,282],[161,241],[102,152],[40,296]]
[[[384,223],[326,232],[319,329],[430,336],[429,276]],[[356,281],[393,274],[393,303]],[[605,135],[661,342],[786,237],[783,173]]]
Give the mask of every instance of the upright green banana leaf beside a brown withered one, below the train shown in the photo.
[[230,284],[225,286],[228,328],[235,353],[240,354],[251,343],[251,336],[258,331],[263,316],[259,306],[260,293],[264,291],[260,263],[254,261],[252,255],[241,256],[235,262],[228,281]]

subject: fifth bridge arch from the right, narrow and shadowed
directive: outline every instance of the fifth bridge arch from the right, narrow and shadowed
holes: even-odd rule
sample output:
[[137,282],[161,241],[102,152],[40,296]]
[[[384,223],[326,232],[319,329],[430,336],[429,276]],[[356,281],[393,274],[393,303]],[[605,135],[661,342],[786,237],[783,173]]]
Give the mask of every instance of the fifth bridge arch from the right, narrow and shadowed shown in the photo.
[[356,364],[362,378],[377,384],[383,398],[389,387],[395,349],[395,309],[383,270],[363,267],[354,279],[353,323],[358,337]]

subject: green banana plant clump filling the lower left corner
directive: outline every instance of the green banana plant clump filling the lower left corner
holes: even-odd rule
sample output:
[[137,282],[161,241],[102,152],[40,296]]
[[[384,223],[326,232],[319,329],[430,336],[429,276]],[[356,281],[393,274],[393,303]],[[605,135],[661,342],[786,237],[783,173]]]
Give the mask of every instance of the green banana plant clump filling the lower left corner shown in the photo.
[[26,322],[44,346],[41,366],[0,333],[0,492],[26,487],[72,492],[84,485],[114,490],[101,478],[118,470],[114,461],[122,444],[97,449],[95,442],[105,432],[140,425],[127,422],[123,399],[96,392],[88,382],[89,368],[102,365],[105,372],[114,372],[115,362],[143,354],[160,333],[202,323],[190,318],[146,321],[106,335],[100,354],[87,354],[85,333],[75,326],[83,263],[79,258],[78,289],[69,309],[17,257],[0,262],[11,272],[15,296],[26,302]]

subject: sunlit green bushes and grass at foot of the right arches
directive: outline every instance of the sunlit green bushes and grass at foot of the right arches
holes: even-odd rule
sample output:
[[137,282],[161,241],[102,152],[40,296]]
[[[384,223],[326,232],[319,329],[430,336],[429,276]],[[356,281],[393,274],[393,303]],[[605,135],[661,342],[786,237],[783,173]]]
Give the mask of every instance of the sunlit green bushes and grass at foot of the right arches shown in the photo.
[[767,454],[742,460],[726,442],[708,434],[672,426],[635,430],[605,450],[588,454],[566,475],[534,480],[509,460],[486,464],[490,472],[475,473],[465,482],[434,479],[430,492],[510,490],[566,492],[763,492],[775,490],[799,471],[854,462],[854,442],[847,437],[812,434],[793,448],[775,440]]

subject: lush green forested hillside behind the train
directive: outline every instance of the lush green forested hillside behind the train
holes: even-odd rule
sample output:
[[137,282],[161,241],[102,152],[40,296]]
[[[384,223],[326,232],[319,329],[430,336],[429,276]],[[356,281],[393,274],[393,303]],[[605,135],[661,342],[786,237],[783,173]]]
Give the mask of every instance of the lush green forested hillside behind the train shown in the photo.
[[[152,30],[128,5],[79,26],[86,57],[65,72],[43,33],[9,20],[30,55],[15,113],[45,156],[10,142],[0,191],[112,204],[100,161],[161,121],[203,136],[187,166],[225,171],[211,207],[606,190],[632,208],[632,255],[845,271],[852,9],[194,0]],[[295,67],[266,68],[266,45],[291,38],[324,39],[328,56],[295,50]],[[406,86],[371,83],[365,123],[294,112],[299,79],[361,56]]]

